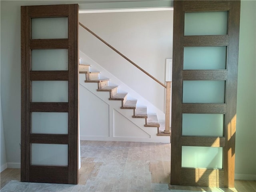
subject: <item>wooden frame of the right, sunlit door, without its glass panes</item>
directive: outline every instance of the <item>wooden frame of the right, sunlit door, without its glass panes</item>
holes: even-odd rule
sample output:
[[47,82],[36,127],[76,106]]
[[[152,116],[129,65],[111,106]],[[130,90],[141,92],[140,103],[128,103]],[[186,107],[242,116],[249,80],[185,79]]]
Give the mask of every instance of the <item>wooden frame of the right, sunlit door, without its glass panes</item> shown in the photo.
[[[228,35],[184,36],[184,12],[228,11]],[[234,187],[234,156],[236,133],[236,95],[240,1],[176,1],[174,0],[173,68],[172,68],[172,150],[171,184],[210,186],[218,177],[219,186]],[[184,46],[227,46],[226,70],[183,70]],[[224,104],[182,102],[183,80],[225,80]],[[182,136],[182,113],[225,114],[223,137]],[[223,147],[223,170],[182,168],[182,146]],[[197,173],[196,173],[197,172]],[[212,176],[210,176],[212,174]],[[198,182],[195,177],[200,177]],[[184,181],[187,180],[188,182]],[[192,184],[193,183],[193,184]]]

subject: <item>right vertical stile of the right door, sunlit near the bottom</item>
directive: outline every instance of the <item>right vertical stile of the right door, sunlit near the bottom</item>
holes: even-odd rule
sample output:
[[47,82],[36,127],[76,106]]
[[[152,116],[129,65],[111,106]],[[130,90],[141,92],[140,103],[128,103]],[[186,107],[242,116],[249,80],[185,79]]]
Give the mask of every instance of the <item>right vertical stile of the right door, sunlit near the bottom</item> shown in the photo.
[[236,98],[238,76],[238,48],[240,27],[240,1],[232,1],[229,10],[228,79],[226,90],[226,146],[224,152],[225,186],[234,187]]

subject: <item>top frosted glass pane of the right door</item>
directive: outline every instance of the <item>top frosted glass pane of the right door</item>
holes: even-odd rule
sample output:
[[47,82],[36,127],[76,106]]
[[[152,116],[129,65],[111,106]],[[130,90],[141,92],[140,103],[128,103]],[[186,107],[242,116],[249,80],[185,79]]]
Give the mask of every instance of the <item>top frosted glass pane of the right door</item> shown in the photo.
[[184,35],[228,34],[228,11],[185,13]]

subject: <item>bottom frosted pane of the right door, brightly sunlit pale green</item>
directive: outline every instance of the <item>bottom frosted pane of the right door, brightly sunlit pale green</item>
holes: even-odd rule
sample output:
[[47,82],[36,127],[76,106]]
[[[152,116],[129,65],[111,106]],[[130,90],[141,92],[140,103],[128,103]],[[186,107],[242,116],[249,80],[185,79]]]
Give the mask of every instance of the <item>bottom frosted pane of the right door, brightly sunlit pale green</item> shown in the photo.
[[222,169],[222,152],[222,147],[182,146],[181,166]]

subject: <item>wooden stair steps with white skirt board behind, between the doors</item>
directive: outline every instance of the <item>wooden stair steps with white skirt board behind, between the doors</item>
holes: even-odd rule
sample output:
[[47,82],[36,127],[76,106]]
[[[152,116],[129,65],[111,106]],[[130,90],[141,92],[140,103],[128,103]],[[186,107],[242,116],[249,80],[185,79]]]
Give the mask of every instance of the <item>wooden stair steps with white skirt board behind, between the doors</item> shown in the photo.
[[132,109],[132,118],[144,119],[145,127],[156,127],[157,136],[170,136],[170,133],[164,133],[165,120],[158,120],[156,113],[148,113],[146,106],[137,106],[137,100],[129,100],[128,93],[118,92],[118,86],[109,86],[110,79],[101,79],[100,72],[91,72],[91,65],[79,64],[79,73],[85,74],[86,83],[97,83],[98,92],[109,92],[109,100],[121,101],[121,109]]

